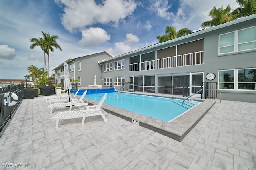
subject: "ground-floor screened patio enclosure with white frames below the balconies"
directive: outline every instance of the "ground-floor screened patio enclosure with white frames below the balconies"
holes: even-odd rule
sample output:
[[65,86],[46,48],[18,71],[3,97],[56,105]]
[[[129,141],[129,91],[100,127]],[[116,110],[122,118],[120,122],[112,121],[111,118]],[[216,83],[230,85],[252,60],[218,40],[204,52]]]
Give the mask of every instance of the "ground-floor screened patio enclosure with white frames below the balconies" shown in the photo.
[[201,72],[157,75],[157,81],[155,81],[155,75],[132,76],[129,78],[130,82],[133,82],[131,87],[134,91],[187,96],[202,88],[203,75]]

